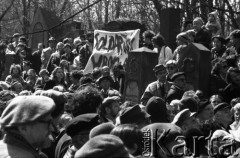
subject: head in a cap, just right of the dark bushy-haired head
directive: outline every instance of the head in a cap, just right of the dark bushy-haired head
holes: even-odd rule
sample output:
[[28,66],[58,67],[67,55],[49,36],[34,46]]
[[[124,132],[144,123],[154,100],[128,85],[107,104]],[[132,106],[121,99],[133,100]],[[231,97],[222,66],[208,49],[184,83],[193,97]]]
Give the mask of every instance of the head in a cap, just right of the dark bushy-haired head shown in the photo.
[[120,98],[117,96],[105,98],[99,107],[99,115],[115,122],[115,119],[120,111],[119,101]]

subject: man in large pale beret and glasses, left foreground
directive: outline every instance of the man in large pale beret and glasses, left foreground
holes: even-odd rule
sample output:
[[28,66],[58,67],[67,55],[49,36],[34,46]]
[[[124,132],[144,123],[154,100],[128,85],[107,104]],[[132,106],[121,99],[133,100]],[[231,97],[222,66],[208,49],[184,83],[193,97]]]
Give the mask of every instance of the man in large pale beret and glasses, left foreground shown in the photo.
[[41,149],[51,145],[51,113],[55,103],[45,96],[18,96],[0,118],[5,135],[0,141],[0,157],[40,158]]

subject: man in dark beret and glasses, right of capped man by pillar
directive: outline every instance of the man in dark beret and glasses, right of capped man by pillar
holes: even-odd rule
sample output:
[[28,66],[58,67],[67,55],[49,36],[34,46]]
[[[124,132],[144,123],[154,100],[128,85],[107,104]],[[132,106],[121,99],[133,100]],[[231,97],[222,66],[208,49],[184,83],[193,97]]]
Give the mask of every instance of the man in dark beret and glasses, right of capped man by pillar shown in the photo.
[[184,93],[184,87],[186,85],[186,77],[184,72],[177,72],[172,75],[173,85],[167,94],[167,103],[171,103],[172,100],[180,100]]

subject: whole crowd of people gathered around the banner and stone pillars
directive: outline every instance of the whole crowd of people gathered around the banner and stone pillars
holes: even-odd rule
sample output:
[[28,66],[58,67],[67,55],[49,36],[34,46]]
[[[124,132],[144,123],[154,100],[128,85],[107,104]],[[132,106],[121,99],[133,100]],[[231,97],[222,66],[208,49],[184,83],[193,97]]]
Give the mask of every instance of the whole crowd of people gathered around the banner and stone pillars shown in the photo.
[[[0,44],[0,158],[239,157],[240,30],[222,35],[217,12],[208,22],[185,21],[172,50],[164,37],[145,31],[143,46],[158,53],[138,104],[124,100],[126,70],[83,70],[94,34],[38,44],[26,37]],[[187,86],[178,62],[191,43],[212,55],[209,96]]]

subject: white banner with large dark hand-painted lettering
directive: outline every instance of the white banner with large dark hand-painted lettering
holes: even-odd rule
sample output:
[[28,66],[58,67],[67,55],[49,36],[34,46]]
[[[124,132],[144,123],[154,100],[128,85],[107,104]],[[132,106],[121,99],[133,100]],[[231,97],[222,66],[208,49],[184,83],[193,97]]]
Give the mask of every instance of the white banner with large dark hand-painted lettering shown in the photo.
[[93,53],[84,73],[92,73],[95,67],[111,68],[116,62],[124,65],[128,52],[139,47],[139,34],[139,29],[119,32],[95,30]]

